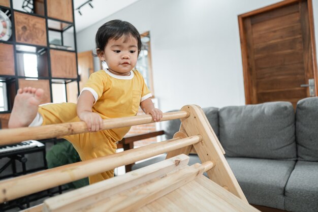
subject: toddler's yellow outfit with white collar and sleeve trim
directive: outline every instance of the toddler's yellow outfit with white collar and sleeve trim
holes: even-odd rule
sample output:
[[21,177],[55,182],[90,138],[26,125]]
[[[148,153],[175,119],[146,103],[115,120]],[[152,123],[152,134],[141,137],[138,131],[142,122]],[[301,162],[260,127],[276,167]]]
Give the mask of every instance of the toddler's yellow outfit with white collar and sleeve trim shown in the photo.
[[[105,118],[135,116],[140,103],[151,97],[142,75],[131,71],[130,76],[114,75],[108,70],[100,70],[90,75],[83,90],[94,96],[92,111]],[[76,104],[47,104],[39,108],[43,117],[42,125],[67,122],[80,122],[76,112]],[[77,150],[82,161],[98,158],[116,152],[116,142],[128,133],[130,127],[69,135],[63,138],[70,141]],[[89,183],[110,178],[114,171],[106,171],[89,176]]]

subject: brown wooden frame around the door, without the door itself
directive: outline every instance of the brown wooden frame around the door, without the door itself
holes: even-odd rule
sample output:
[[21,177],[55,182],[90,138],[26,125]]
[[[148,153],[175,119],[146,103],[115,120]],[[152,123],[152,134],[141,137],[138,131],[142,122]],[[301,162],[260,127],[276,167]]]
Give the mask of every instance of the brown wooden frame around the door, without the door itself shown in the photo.
[[[318,73],[317,73],[317,60],[316,60],[316,47],[315,47],[315,37],[314,37],[314,24],[313,24],[313,10],[312,10],[312,0],[285,0],[282,2],[278,2],[273,5],[269,5],[267,7],[263,7],[257,10],[253,10],[241,15],[238,15],[239,22],[239,33],[240,33],[240,42],[241,42],[241,53],[242,53],[242,64],[243,64],[243,77],[244,77],[244,91],[245,91],[245,104],[253,104],[252,103],[252,77],[251,72],[249,71],[248,65],[248,54],[247,54],[247,42],[246,42],[246,32],[244,29],[244,19],[253,15],[257,15],[263,12],[268,12],[280,7],[288,6],[294,4],[296,2],[307,1],[308,6],[308,19],[309,19],[309,31],[310,31],[310,40],[311,40],[311,48],[312,48],[312,67],[313,67],[313,75],[315,80],[315,93],[316,96],[318,94]],[[254,85],[255,86],[255,85]],[[255,95],[255,94],[254,94]]]

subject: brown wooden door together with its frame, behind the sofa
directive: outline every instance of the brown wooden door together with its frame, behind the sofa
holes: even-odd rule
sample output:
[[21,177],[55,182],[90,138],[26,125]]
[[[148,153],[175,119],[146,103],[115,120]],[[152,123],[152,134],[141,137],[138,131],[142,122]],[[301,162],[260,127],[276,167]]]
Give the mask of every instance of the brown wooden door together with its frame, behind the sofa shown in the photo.
[[238,16],[246,104],[317,94],[317,68],[311,0],[287,0]]

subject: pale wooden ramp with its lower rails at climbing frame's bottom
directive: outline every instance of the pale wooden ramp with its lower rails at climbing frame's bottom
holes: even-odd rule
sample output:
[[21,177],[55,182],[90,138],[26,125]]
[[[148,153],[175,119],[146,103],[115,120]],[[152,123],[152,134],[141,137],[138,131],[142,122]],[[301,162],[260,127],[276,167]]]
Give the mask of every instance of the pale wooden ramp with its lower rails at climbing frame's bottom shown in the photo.
[[258,211],[179,155],[44,201],[43,211]]

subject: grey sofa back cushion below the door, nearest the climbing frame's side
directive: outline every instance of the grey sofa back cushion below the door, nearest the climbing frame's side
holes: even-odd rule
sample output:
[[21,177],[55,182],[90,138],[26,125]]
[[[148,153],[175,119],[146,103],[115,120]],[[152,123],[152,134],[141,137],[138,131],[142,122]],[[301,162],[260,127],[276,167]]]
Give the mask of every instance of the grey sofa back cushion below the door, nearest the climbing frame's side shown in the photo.
[[295,113],[290,102],[221,108],[219,136],[229,157],[296,159]]

